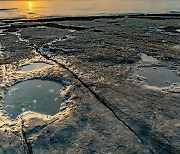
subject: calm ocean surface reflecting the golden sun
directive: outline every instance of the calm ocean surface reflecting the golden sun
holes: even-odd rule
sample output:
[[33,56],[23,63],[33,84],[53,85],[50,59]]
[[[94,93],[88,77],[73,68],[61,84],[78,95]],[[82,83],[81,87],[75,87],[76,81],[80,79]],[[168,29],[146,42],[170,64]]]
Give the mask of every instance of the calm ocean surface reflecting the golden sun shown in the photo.
[[180,13],[180,0],[0,1],[0,19],[123,13]]

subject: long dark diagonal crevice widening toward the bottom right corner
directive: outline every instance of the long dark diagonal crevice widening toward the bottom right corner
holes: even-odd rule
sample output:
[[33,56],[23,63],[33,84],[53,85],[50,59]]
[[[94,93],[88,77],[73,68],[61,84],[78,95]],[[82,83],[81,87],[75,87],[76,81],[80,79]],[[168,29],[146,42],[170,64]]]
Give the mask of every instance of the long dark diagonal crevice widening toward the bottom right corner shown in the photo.
[[86,84],[82,79],[77,76],[77,74],[71,71],[64,64],[52,59],[49,55],[42,54],[41,51],[39,51],[38,47],[35,46],[35,48],[36,51],[41,54],[41,56],[45,57],[47,60],[55,62],[56,64],[70,72],[73,77],[77,79],[85,88],[87,88],[100,103],[102,103],[106,108],[108,108],[119,121],[121,121],[131,132],[133,132],[151,153],[162,152],[166,154],[178,151],[177,149],[174,149],[173,146],[167,145],[166,143],[153,138],[153,134],[151,134],[150,132],[150,126],[134,120],[129,115],[121,111],[119,108],[113,106],[112,103],[110,103],[103,96],[97,94],[94,90],[92,90],[90,86],[88,86],[88,84]]

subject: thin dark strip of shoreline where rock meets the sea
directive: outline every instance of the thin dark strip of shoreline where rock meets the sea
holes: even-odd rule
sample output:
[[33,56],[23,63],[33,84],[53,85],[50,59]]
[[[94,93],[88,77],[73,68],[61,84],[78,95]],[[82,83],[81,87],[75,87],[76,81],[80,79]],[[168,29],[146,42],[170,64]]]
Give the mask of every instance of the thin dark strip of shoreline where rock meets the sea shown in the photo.
[[100,18],[114,19],[114,18],[149,18],[149,19],[180,19],[180,12],[170,13],[121,13],[121,14],[104,14],[104,15],[87,15],[87,16],[49,16],[40,18],[0,18],[0,21],[6,23],[12,22],[49,22],[49,21],[68,21],[68,20],[95,20]]

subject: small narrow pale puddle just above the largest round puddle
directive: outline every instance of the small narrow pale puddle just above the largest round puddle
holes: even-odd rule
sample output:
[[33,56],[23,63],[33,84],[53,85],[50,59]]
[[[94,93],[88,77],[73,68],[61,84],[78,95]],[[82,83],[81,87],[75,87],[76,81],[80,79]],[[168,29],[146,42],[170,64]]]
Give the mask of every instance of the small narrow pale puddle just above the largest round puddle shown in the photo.
[[41,69],[43,67],[49,66],[49,64],[47,63],[32,63],[32,64],[28,64],[28,65],[24,65],[22,67],[20,67],[20,71],[33,71],[33,70],[38,70]]

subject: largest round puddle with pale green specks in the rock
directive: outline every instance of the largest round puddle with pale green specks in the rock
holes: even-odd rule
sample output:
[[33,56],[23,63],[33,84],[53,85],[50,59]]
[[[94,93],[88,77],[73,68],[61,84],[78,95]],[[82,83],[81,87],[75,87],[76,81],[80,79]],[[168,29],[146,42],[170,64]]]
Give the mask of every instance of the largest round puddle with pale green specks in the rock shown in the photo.
[[63,102],[60,97],[62,89],[63,86],[54,81],[36,79],[20,82],[5,94],[3,107],[11,119],[25,111],[54,115]]

